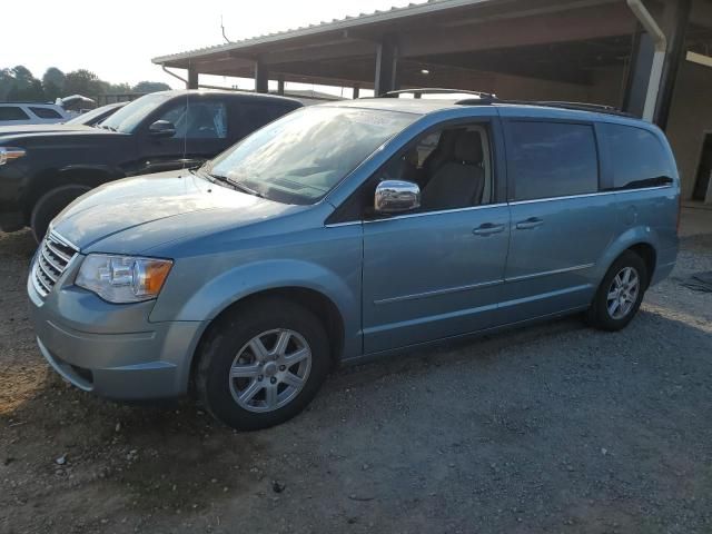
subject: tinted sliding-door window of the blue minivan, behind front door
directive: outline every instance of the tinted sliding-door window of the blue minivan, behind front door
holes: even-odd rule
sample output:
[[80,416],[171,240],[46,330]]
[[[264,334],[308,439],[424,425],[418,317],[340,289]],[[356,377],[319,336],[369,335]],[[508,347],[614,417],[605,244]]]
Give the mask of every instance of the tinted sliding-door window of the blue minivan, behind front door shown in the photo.
[[564,197],[599,190],[593,127],[564,122],[510,125],[510,161],[516,200]]

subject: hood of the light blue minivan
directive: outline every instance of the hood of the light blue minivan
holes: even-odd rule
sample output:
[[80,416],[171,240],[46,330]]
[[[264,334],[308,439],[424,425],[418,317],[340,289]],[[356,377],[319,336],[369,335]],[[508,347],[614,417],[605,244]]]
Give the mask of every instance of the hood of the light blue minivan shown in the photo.
[[52,229],[82,251],[138,254],[167,241],[259,222],[298,208],[177,170],[93,189],[59,214]]

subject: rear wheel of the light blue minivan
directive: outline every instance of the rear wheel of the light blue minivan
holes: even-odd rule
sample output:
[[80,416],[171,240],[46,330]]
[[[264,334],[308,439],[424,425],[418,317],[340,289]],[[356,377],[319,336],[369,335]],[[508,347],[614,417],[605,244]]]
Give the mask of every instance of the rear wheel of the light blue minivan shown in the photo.
[[623,253],[606,273],[587,320],[596,328],[615,332],[625,328],[641,307],[647,288],[647,268],[633,251]]

